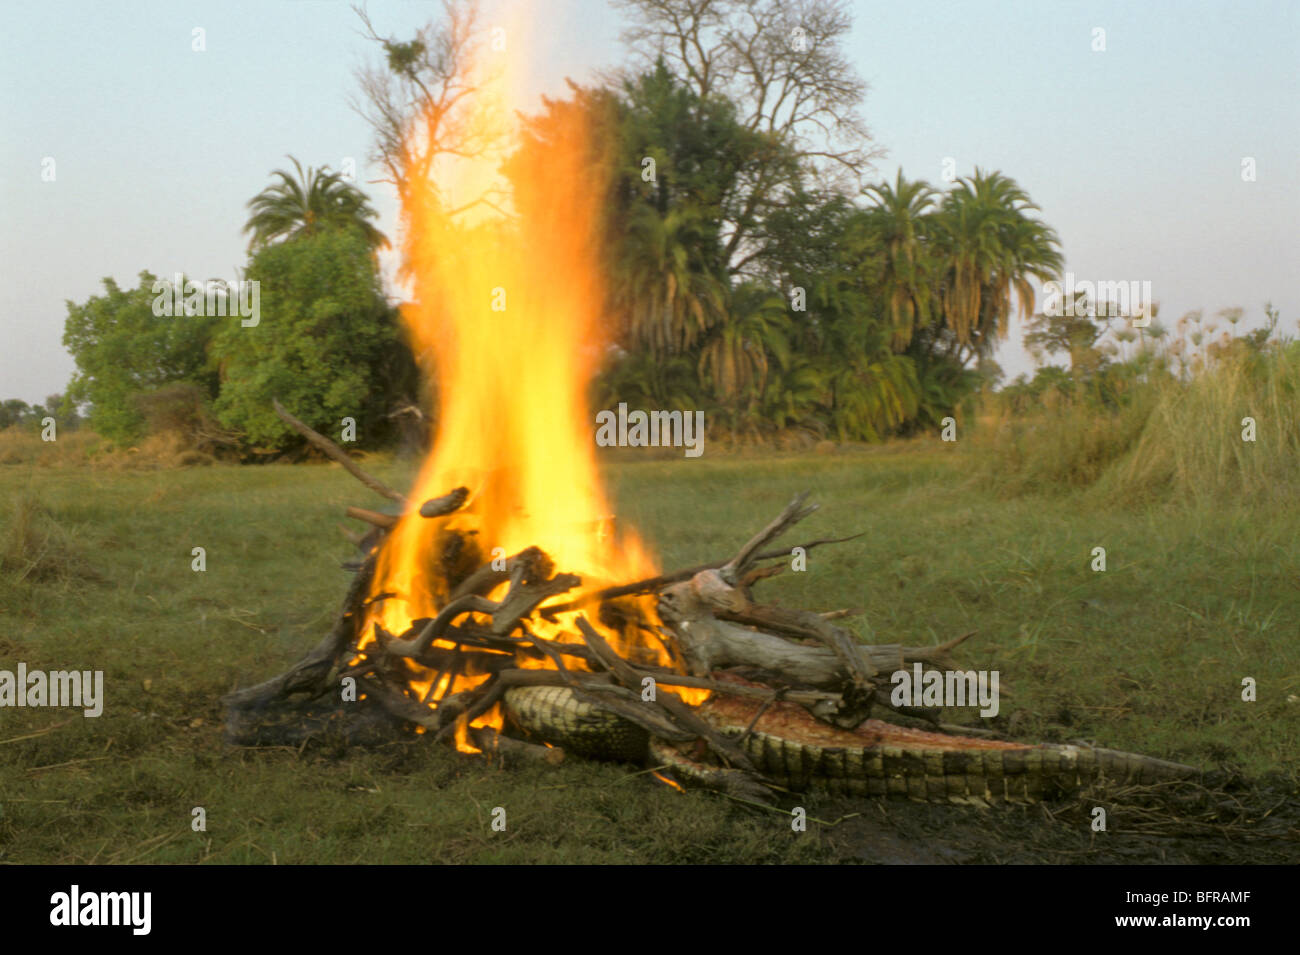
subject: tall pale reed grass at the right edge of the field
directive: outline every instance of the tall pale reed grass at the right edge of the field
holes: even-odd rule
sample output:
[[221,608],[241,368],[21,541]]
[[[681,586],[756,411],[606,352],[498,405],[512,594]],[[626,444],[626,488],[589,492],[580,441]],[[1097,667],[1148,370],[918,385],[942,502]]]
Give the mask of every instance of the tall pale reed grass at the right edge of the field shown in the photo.
[[1300,490],[1300,343],[1239,342],[1195,373],[1128,381],[1119,398],[1106,407],[1053,388],[1013,412],[994,396],[967,443],[975,479],[1004,494],[1093,487],[1131,500]]

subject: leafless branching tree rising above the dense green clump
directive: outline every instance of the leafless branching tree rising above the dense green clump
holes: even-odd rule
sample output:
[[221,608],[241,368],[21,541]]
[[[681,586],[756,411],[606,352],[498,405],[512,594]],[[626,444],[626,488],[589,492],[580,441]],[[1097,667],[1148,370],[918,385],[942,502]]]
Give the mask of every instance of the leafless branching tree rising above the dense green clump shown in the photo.
[[618,3],[632,16],[623,40],[641,65],[663,57],[701,99],[725,96],[746,129],[783,147],[746,173],[728,210],[733,272],[757,255],[745,247],[797,174],[814,174],[826,190],[858,192],[883,151],[858,114],[868,87],[844,53],[853,25],[844,0]]

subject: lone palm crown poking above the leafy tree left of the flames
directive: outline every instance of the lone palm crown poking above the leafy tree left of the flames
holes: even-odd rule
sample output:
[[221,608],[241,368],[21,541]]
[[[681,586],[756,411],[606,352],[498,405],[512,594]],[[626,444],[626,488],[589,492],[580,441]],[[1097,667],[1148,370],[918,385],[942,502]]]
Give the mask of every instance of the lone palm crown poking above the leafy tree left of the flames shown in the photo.
[[378,212],[370,200],[355,186],[343,179],[341,173],[328,168],[320,170],[302,165],[292,156],[298,178],[277,169],[280,182],[268,186],[248,201],[252,213],[244,225],[246,233],[252,233],[248,248],[260,248],[277,239],[292,239],[299,235],[315,235],[325,229],[358,229],[374,248],[387,248],[389,240],[369,220]]

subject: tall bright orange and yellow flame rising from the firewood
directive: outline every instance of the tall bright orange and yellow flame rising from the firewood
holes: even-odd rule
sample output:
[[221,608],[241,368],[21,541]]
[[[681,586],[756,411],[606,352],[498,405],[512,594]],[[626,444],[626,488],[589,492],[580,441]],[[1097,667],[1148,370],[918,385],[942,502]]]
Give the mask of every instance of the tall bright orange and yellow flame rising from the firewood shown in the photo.
[[[515,116],[508,81],[498,73],[474,82],[471,116],[485,142]],[[586,387],[604,348],[598,256],[604,190],[594,172],[601,166],[593,162],[597,155],[582,110],[560,109],[545,138],[532,140],[530,160],[510,165],[508,178],[502,172],[503,149],[443,156],[432,166],[408,164],[408,170],[432,173],[410,182],[403,196],[404,274],[413,296],[402,314],[416,353],[422,361],[432,359],[438,430],[411,492],[411,511],[385,541],[376,564],[370,595],[396,598],[376,600],[369,622],[390,633],[434,616],[445,603],[445,568],[434,555],[447,531],[477,544],[477,563],[541,547],[556,570],[582,578],[581,589],[564,599],[656,573],[634,534],[624,530],[615,539],[608,533],[611,512],[586,404]],[[462,485],[471,490],[462,511],[436,520],[416,513],[421,502]],[[655,620],[653,603],[641,602],[650,620]],[[577,642],[575,617],[576,612],[562,613],[534,631]],[[647,659],[671,663],[667,651],[640,631],[604,635],[619,652],[640,647]],[[363,644],[369,639],[370,633]],[[520,660],[519,665],[550,664]],[[575,665],[580,668],[580,661]],[[411,668],[412,696],[430,704],[486,680],[485,674],[439,678]],[[694,702],[693,696],[707,694],[682,695]],[[494,709],[473,725],[500,722]],[[473,748],[463,726],[456,738],[460,748]]]

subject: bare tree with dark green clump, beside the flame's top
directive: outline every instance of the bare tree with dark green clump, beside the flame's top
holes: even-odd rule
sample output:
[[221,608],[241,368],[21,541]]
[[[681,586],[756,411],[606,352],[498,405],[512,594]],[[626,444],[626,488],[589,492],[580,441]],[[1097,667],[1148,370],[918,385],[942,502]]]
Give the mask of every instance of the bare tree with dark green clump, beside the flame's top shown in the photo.
[[442,0],[441,22],[407,42],[381,36],[364,6],[352,9],[385,60],[356,71],[364,103],[351,105],[374,130],[370,159],[385,170],[378,182],[393,183],[406,201],[413,183],[430,182],[436,160],[480,156],[499,135],[473,108],[485,79],[474,70],[482,42],[477,1]]

